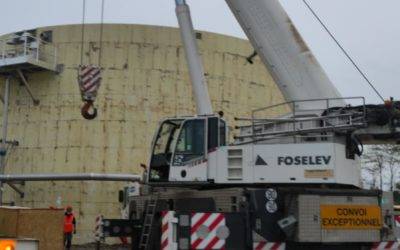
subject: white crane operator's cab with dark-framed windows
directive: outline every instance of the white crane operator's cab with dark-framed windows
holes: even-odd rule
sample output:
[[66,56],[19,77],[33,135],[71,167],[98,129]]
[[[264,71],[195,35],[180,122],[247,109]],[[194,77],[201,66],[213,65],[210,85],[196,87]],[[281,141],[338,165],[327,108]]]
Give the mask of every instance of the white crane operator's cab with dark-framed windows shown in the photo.
[[152,144],[149,184],[208,182],[209,161],[226,146],[226,134],[218,116],[164,120]]

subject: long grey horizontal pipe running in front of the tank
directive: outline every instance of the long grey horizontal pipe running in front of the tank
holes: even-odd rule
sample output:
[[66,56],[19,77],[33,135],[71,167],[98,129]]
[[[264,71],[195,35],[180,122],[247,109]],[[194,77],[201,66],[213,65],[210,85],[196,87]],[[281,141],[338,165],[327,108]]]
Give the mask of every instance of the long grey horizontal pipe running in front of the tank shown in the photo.
[[140,182],[140,175],[133,174],[98,174],[98,173],[72,173],[72,174],[7,174],[0,175],[2,182],[14,181],[128,181]]

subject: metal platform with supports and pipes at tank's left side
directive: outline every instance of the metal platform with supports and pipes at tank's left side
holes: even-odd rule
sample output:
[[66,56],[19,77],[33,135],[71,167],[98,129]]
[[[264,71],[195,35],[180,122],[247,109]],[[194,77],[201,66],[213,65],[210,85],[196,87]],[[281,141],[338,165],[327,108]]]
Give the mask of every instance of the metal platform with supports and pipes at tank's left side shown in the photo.
[[[0,75],[5,77],[4,94],[0,99],[3,102],[2,135],[0,143],[0,176],[4,176],[6,169],[6,157],[9,145],[18,145],[14,141],[7,140],[8,112],[10,103],[10,88],[13,79],[21,83],[31,97],[34,105],[39,105],[39,99],[35,98],[27,75],[39,71],[59,73],[57,64],[57,49],[51,43],[51,39],[42,39],[45,34],[37,36],[36,30],[17,32],[0,38]],[[51,36],[51,35],[50,35]],[[23,197],[23,191],[16,186],[15,181],[0,179],[0,205],[3,200],[3,184],[8,184]]]

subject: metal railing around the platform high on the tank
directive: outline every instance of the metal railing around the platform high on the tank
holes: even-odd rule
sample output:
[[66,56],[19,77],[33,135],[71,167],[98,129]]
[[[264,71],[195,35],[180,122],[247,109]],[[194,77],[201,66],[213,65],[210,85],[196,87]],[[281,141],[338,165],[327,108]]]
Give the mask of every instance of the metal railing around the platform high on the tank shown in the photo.
[[57,49],[53,44],[29,33],[14,34],[0,39],[0,66],[9,66],[24,61],[45,62],[55,68]]

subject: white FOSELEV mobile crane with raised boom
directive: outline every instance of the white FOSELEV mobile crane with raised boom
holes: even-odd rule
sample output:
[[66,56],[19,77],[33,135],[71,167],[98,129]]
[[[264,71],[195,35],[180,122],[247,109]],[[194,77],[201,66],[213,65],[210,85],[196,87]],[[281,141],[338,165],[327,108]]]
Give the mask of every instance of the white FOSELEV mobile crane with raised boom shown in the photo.
[[160,123],[140,195],[125,200],[133,248],[397,249],[392,196],[361,188],[360,155],[399,141],[400,103],[342,98],[278,0],[226,2],[286,102],[237,118],[229,144],[176,0],[197,115]]

